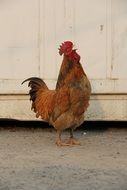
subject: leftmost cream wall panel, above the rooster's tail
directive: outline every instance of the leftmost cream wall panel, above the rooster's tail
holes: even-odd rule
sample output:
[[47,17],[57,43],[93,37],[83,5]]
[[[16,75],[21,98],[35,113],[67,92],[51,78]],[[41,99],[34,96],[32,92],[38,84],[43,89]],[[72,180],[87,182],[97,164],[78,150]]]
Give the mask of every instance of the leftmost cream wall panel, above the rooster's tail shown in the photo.
[[0,2],[1,79],[24,79],[39,73],[38,2]]

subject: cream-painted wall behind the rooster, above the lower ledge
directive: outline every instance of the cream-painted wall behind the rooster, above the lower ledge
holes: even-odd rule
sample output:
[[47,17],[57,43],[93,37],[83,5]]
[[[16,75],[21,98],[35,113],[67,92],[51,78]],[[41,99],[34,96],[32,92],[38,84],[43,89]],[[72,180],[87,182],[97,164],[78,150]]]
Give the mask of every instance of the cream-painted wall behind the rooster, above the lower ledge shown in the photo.
[[126,21],[126,0],[1,0],[0,94],[28,93],[21,81],[30,76],[54,88],[62,61],[58,46],[65,40],[76,44],[93,94],[126,94]]

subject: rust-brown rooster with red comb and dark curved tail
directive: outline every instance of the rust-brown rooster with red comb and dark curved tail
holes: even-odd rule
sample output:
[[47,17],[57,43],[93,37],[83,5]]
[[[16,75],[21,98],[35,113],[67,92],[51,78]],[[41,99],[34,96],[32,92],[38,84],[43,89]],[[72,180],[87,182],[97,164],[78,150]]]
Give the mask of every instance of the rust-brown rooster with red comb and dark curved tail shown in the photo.
[[[37,77],[28,78],[22,84],[29,81],[31,109],[36,113],[36,117],[41,117],[57,130],[56,144],[79,145],[80,142],[73,136],[73,130],[84,122],[91,85],[80,63],[80,55],[71,41],[60,45],[59,54],[63,55],[63,61],[55,90],[50,90],[45,82]],[[70,138],[63,142],[61,133],[67,128],[70,129]]]

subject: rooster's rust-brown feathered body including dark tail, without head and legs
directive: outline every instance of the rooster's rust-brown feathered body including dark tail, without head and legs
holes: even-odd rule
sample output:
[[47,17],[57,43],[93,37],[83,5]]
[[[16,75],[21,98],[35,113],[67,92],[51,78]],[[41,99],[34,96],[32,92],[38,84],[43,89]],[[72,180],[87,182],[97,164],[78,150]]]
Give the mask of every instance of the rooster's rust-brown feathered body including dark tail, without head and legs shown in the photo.
[[[56,90],[49,90],[44,81],[39,78],[32,77],[24,82],[26,81],[30,81],[29,94],[36,117],[40,116],[56,128],[63,128],[57,124],[57,119],[62,114],[65,117],[64,126],[66,128],[66,114],[70,114],[75,120],[76,117],[80,118],[88,107],[91,93],[88,78],[81,64],[68,61],[66,56],[63,59]],[[77,122],[73,124],[75,125]]]

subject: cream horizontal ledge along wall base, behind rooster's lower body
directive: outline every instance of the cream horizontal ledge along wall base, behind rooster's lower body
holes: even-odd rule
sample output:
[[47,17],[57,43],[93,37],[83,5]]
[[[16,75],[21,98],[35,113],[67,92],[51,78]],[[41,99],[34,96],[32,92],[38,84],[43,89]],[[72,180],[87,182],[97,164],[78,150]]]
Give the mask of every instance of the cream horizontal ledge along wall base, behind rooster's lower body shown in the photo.
[[[127,95],[94,94],[85,119],[92,120],[127,120]],[[0,95],[0,118],[20,120],[36,119],[31,111],[28,95]]]

